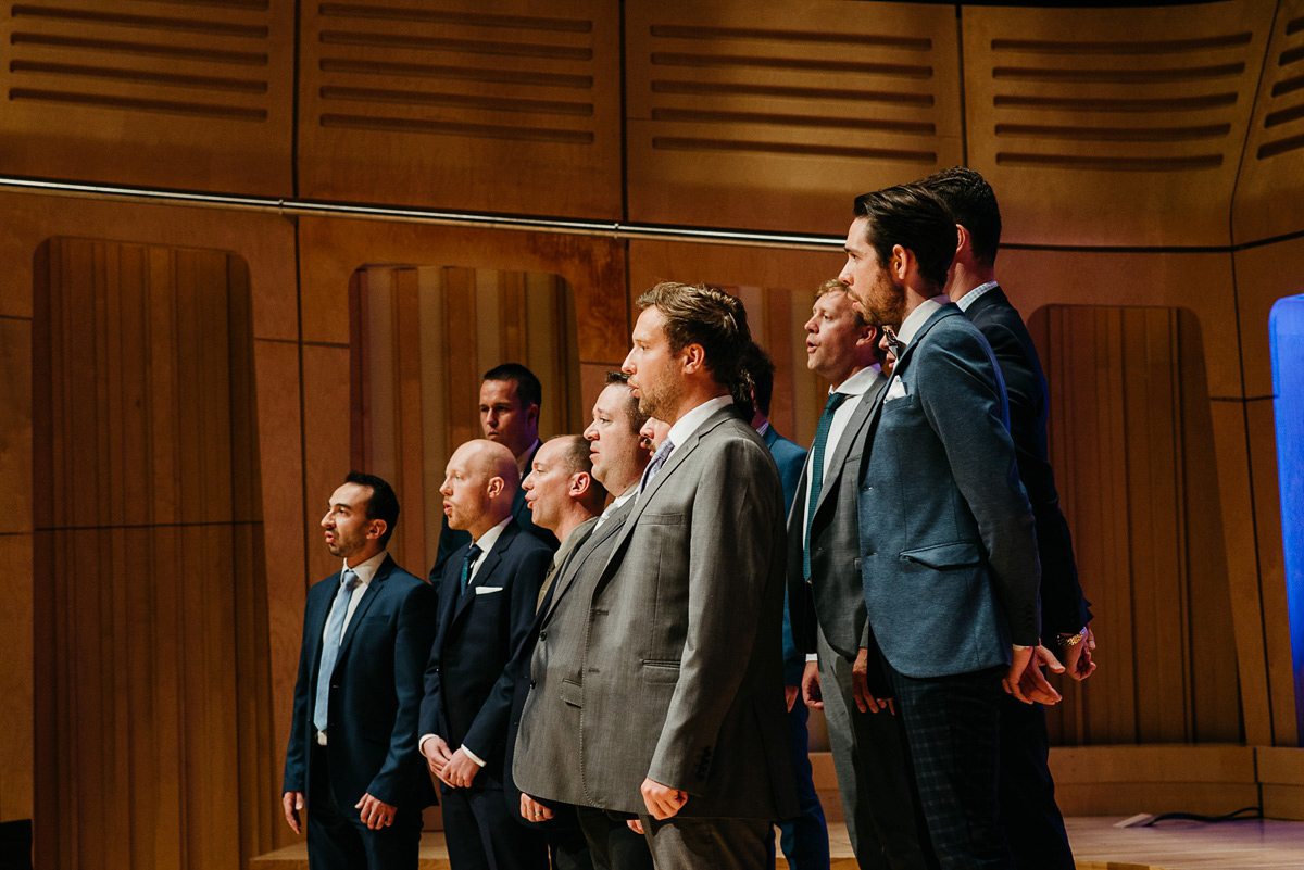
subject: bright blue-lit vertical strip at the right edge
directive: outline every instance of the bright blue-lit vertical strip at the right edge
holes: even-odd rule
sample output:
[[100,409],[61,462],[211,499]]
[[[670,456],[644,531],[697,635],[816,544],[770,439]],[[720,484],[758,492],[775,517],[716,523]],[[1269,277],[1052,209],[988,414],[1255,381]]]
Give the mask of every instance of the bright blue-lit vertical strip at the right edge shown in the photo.
[[1278,300],[1267,316],[1273,353],[1277,482],[1290,610],[1295,720],[1304,738],[1304,296]]

